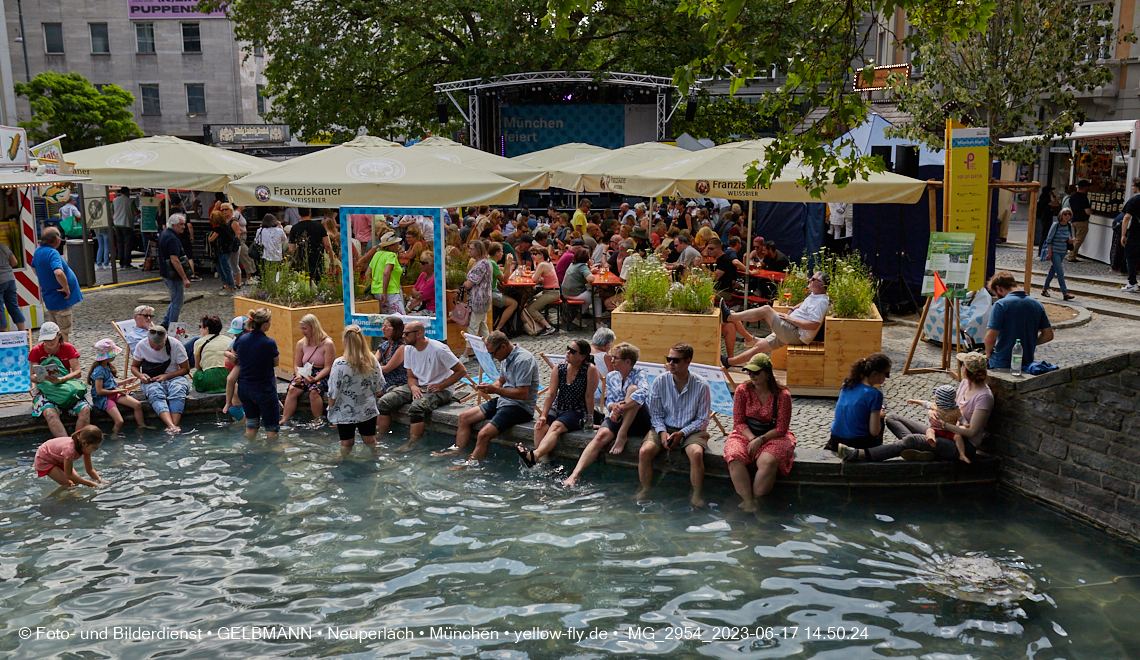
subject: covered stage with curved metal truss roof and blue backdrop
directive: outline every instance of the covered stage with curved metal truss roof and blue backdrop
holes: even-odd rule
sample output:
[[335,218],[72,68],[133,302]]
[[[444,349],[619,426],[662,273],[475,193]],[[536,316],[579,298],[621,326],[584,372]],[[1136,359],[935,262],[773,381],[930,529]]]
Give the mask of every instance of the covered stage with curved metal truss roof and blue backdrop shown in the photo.
[[435,92],[447,97],[435,106],[441,122],[455,107],[467,123],[469,145],[507,157],[565,142],[616,149],[667,140],[669,120],[692,99],[679,97],[670,78],[591,71],[458,80],[437,84]]

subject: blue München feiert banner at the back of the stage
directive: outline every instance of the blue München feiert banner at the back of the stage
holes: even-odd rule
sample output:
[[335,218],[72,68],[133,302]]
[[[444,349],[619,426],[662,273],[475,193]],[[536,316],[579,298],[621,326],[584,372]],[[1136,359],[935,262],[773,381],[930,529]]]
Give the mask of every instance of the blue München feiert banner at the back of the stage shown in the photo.
[[619,149],[626,146],[626,111],[619,104],[507,105],[499,108],[500,144],[506,157],[567,142]]

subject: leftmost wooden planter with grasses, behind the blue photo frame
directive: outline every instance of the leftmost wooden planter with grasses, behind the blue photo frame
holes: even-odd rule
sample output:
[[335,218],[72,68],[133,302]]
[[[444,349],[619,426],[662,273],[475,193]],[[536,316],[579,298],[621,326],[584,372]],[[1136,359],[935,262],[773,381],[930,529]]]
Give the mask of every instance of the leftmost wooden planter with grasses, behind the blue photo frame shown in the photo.
[[[326,268],[318,282],[310,282],[306,268],[294,269],[288,261],[264,261],[258,277],[251,278],[250,295],[234,296],[234,316],[245,316],[250,309],[267,308],[272,312],[270,337],[277,342],[282,360],[277,375],[293,377],[293,347],[301,340],[301,317],[316,316],[325,333],[336,344],[336,355],[343,352],[341,334],[344,332],[343,283],[339,271]],[[380,303],[366,292],[356,292],[357,313],[378,313]]]

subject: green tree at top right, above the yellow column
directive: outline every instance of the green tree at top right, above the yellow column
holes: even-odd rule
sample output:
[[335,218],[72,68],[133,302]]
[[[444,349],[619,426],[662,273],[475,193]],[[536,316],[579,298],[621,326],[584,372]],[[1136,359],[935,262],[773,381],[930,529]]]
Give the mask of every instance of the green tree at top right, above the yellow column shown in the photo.
[[[940,147],[946,120],[953,119],[988,128],[995,156],[1033,162],[1034,147],[1085,120],[1077,95],[1113,82],[1112,70],[1098,59],[1114,57],[1119,41],[1135,41],[1135,35],[1117,32],[1110,5],[1072,0],[1000,3],[984,30],[962,40],[920,32],[914,60],[923,67],[922,78],[911,84],[894,81],[898,107],[914,122],[891,135]],[[1043,138],[997,141],[1026,132]]]

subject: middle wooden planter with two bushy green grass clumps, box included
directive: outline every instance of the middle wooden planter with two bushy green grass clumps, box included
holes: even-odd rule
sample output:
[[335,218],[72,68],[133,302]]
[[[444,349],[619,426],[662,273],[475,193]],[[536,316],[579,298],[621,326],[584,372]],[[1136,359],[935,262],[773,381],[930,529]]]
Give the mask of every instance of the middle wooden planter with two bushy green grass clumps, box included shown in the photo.
[[693,347],[694,362],[719,365],[720,312],[712,307],[711,275],[697,268],[673,282],[657,255],[629,259],[625,301],[610,319],[614,334],[640,348],[648,361],[662,361],[684,341]]

